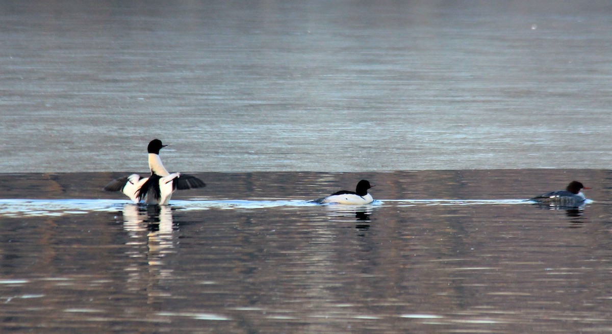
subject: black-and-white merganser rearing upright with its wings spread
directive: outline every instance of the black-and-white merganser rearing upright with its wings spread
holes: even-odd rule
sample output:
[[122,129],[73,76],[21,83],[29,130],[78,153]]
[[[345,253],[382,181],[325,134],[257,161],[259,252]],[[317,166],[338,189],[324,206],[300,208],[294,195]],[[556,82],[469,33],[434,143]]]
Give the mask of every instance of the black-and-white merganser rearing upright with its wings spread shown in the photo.
[[138,174],[124,176],[111,181],[104,187],[105,191],[121,191],[134,203],[145,200],[151,205],[168,205],[172,194],[177,190],[206,187],[206,184],[195,176],[181,173],[168,173],[163,167],[159,151],[163,145],[159,139],[151,140],[149,152],[149,169],[151,176],[143,178]]

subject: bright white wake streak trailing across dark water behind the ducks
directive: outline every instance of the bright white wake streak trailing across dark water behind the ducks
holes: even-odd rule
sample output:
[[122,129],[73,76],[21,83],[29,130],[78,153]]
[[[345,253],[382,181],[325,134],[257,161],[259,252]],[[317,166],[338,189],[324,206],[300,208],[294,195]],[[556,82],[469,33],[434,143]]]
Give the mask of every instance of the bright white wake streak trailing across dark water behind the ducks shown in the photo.
[[[589,201],[590,203],[592,201]],[[308,200],[207,200],[194,198],[193,200],[173,200],[170,205],[177,210],[208,210],[208,209],[265,209],[286,208],[298,209],[311,206],[324,206],[330,209],[349,211],[354,209],[373,209],[376,207],[403,207],[403,206],[465,206],[465,205],[520,205],[533,204],[526,200],[375,200],[370,205],[320,205]],[[0,200],[0,216],[64,216],[66,214],[88,214],[90,212],[120,212],[126,205],[133,206],[126,200],[88,200],[88,199],[61,199],[61,200],[32,200],[32,199],[6,199]]]

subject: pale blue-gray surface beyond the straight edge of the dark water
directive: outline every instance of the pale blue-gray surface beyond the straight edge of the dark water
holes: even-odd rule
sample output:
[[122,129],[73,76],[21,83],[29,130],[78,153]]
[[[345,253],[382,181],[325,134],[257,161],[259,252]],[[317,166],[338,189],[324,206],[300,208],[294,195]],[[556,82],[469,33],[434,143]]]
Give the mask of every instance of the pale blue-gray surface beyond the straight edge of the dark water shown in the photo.
[[608,1],[2,1],[2,172],[608,168]]

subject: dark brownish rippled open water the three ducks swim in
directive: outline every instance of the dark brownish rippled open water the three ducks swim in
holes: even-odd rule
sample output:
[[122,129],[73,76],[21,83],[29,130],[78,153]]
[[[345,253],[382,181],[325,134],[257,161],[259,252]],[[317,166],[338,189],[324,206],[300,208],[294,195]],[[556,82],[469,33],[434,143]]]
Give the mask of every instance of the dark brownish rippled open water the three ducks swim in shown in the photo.
[[[162,208],[117,175],[0,177],[0,332],[612,329],[610,170],[199,173]],[[524,201],[573,178],[583,208]]]

